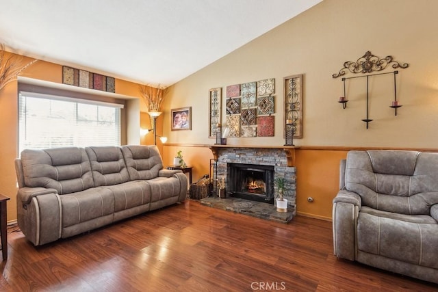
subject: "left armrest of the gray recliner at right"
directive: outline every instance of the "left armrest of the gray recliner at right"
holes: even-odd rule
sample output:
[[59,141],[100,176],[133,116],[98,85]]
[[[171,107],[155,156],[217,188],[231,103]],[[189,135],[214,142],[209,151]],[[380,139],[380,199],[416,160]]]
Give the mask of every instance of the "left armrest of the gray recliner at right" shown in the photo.
[[355,261],[357,246],[357,217],[361,197],[342,189],[333,199],[333,250],[335,256]]

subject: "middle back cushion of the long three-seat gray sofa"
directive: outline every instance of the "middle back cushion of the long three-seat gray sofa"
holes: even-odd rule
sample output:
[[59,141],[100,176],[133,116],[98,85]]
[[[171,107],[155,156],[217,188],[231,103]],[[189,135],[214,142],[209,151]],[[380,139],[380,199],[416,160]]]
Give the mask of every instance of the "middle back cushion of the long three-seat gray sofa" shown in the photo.
[[117,146],[85,148],[94,179],[94,186],[117,185],[129,181],[122,150]]

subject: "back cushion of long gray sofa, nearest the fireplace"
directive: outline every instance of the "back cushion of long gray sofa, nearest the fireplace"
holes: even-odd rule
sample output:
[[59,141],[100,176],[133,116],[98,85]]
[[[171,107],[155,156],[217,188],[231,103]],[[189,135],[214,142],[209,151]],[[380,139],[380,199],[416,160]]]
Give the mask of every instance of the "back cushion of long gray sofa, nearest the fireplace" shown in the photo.
[[127,145],[122,146],[122,151],[131,181],[155,178],[163,169],[163,160],[155,145]]

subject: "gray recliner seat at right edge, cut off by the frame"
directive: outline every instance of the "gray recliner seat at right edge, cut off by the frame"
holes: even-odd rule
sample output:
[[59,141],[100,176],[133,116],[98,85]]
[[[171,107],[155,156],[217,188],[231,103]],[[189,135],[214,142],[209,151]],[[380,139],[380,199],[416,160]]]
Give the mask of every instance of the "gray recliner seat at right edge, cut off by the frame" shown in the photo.
[[340,169],[335,255],[438,283],[438,153],[350,151]]

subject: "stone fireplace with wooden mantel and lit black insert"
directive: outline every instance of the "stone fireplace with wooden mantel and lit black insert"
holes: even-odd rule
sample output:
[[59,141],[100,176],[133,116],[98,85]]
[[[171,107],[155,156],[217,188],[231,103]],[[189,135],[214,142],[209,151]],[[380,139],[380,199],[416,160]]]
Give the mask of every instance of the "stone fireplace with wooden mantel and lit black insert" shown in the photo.
[[[294,149],[282,146],[232,145],[212,146],[210,149],[216,159],[213,179],[225,182],[227,197],[245,197],[247,200],[263,202],[268,199],[267,202],[272,203],[276,191],[274,179],[277,176],[284,176],[287,190],[285,198],[288,208],[295,214],[296,168],[291,166],[291,152]],[[249,177],[243,178],[242,175]],[[251,180],[253,185],[246,187]]]

